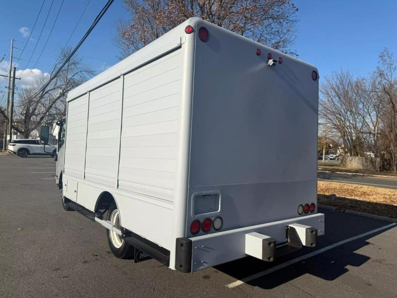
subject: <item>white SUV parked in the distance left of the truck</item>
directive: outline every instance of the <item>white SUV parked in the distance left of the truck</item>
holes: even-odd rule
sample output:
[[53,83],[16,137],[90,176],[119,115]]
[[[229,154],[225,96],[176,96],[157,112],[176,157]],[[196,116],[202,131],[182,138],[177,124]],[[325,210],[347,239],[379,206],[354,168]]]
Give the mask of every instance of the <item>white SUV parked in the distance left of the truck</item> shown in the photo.
[[18,155],[19,157],[26,157],[28,155],[50,155],[56,154],[56,146],[40,143],[36,139],[22,139],[14,140],[8,144],[8,152]]

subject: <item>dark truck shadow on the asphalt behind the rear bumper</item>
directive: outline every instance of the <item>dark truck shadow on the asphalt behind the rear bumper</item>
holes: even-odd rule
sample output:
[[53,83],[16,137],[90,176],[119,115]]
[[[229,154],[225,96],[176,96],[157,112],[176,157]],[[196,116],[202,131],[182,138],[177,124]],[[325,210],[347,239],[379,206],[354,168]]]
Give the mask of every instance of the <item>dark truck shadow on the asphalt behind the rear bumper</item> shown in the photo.
[[[327,213],[327,234],[319,238],[316,250],[390,224],[388,222],[348,215],[337,211],[327,211],[324,213]],[[334,218],[327,221],[327,217],[329,218],[330,215]],[[349,229],[346,229],[346,227],[349,227]],[[358,254],[356,251],[367,245],[373,245],[368,241],[368,239],[382,234],[392,228],[393,227],[337,246],[309,259],[302,260],[286,268],[269,273],[263,277],[248,281],[246,284],[260,287],[262,289],[273,289],[305,274],[311,274],[326,281],[333,281],[347,273],[349,271],[347,269],[348,266],[360,267],[368,262],[370,257]],[[304,248],[297,253],[281,257],[273,263],[266,263],[255,258],[247,257],[216,266],[215,269],[237,280],[243,280],[244,278],[271,269],[277,265],[307,255],[314,251],[315,250],[309,248]]]

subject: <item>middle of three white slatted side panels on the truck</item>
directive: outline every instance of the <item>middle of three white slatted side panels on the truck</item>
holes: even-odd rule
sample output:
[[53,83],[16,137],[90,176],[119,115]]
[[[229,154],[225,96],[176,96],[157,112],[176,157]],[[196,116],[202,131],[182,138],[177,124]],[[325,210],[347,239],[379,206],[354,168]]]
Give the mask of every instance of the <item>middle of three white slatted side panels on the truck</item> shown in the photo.
[[116,185],[121,78],[90,92],[85,179]]

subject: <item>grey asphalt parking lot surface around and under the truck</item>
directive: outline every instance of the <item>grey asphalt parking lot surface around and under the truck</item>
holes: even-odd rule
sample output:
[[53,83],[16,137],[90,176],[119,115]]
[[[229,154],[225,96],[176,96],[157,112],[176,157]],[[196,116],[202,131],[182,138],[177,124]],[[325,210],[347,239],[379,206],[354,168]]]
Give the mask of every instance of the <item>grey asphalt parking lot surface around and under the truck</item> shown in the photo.
[[397,296],[395,224],[320,209],[315,249],[183,274],[114,258],[105,228],[62,209],[54,175],[52,158],[0,156],[0,297]]

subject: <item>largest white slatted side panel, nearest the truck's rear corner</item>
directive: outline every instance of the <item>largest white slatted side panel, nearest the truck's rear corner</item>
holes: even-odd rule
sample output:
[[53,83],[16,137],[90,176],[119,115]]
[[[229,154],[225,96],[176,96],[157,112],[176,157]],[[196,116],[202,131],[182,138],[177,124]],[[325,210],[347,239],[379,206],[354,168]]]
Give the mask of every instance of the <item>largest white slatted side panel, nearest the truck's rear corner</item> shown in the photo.
[[119,188],[173,202],[181,101],[181,50],[124,79]]

